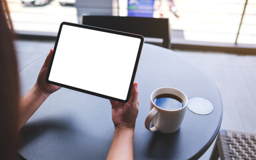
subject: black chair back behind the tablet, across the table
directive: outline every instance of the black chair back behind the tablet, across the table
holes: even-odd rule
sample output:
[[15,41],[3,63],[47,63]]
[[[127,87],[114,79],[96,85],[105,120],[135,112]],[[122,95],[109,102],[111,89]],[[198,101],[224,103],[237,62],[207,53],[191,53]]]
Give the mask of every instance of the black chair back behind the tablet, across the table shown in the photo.
[[163,39],[162,47],[167,49],[171,47],[169,19],[83,15],[82,24],[135,33],[143,37],[160,38]]

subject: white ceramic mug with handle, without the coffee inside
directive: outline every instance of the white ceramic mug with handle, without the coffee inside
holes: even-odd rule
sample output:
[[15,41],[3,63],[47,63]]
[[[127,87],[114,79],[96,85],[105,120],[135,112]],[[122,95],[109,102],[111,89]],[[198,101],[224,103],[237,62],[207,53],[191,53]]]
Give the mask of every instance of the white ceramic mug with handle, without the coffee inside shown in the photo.
[[[183,101],[183,107],[175,110],[167,110],[158,107],[153,101],[157,95],[161,94],[176,95]],[[149,129],[149,131],[160,131],[162,133],[173,133],[177,131],[181,126],[185,112],[187,110],[187,96],[179,89],[172,87],[162,87],[153,91],[150,100],[151,111],[145,119],[145,127]],[[150,127],[151,122],[153,123],[153,127]]]

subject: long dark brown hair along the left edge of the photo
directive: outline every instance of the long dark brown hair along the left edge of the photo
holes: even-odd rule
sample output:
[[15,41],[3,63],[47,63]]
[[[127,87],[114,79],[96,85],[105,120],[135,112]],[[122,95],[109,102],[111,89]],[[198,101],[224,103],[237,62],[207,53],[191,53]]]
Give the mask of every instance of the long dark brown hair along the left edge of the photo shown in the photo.
[[19,83],[13,33],[6,18],[9,10],[3,3],[6,0],[0,1],[0,159],[15,159]]

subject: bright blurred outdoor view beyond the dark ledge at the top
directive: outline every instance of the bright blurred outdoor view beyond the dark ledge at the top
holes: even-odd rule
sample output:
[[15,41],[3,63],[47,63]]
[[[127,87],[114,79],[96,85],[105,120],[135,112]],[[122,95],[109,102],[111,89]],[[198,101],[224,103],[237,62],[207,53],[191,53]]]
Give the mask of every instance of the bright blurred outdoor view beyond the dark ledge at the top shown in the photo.
[[[184,43],[185,40],[256,44],[256,0],[7,0],[7,2],[15,31],[57,33],[62,21],[79,23],[83,14],[167,17],[173,33],[172,43]],[[245,3],[247,3],[246,9]]]

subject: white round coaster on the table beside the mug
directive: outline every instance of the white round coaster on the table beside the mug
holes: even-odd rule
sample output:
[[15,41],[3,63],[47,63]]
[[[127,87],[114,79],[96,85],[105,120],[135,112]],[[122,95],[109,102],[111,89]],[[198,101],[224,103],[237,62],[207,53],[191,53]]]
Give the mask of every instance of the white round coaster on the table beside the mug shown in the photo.
[[193,97],[189,99],[187,107],[190,111],[199,115],[208,115],[213,111],[213,104],[207,99],[203,99],[201,97]]

